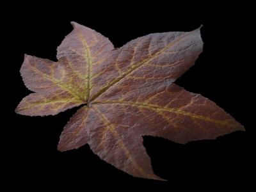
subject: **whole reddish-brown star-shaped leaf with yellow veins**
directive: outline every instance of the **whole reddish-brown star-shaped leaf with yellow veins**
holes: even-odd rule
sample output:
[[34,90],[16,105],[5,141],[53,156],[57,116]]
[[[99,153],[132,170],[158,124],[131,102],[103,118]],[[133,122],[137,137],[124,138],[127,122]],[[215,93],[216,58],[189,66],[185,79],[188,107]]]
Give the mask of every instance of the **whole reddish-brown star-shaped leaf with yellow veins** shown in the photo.
[[211,100],[173,83],[202,52],[200,28],[153,33],[114,49],[100,33],[72,25],[58,62],[25,55],[20,72],[35,93],[15,110],[45,116],[84,104],[61,133],[58,150],[88,143],[134,177],[163,180],[152,171],[142,136],[187,143],[244,130]]

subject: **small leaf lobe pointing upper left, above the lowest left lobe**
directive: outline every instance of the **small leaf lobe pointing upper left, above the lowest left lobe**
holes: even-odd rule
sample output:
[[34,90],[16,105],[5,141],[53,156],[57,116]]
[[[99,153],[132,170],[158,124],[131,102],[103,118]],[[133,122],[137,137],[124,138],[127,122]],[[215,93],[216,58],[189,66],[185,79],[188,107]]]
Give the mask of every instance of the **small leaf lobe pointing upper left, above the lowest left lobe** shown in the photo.
[[[67,74],[70,70],[67,61],[54,62],[25,55],[24,62],[20,68],[22,79],[29,90],[34,92],[54,92],[54,90],[65,90],[74,97],[83,100],[83,83],[81,79],[73,74]],[[77,83],[74,83],[76,81]],[[80,93],[77,92],[80,91]]]

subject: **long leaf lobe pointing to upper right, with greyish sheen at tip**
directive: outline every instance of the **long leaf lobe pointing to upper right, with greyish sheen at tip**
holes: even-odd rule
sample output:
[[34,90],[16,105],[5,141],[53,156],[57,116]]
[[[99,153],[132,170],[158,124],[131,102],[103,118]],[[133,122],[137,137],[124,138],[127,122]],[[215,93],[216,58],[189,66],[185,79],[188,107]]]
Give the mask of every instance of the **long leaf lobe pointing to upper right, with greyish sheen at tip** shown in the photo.
[[[163,41],[163,45],[159,46],[159,41]],[[141,42],[143,42],[144,47],[138,49],[138,46],[142,44]],[[147,47],[145,47],[145,45],[147,45]],[[111,90],[108,91],[109,88],[115,87],[120,81],[127,81],[129,78],[136,79],[140,77],[144,79],[145,76],[150,76],[152,79],[168,79],[170,82],[175,81],[175,79],[181,76],[189,67],[194,65],[196,58],[198,58],[198,55],[202,52],[202,45],[200,28],[191,32],[152,33],[132,40],[113,52],[114,59],[110,65],[115,65],[115,71],[118,72],[115,72],[115,74],[113,72],[111,75],[112,77],[116,76],[116,78],[106,87],[102,88],[100,92],[96,93],[92,97],[92,101],[97,97],[102,97],[100,95],[104,95],[106,92],[111,92]],[[175,48],[175,46],[179,48]],[[145,49],[147,50],[145,51]],[[180,51],[180,49],[186,51],[185,54]],[[162,58],[159,59],[160,56]],[[150,63],[148,63],[149,61]],[[179,65],[174,66],[173,63],[179,63]],[[183,66],[180,63],[182,63]],[[164,66],[163,64],[167,67],[164,68],[164,72],[161,68]],[[152,70],[148,70],[149,65],[155,66]],[[163,73],[165,73],[164,77]]]

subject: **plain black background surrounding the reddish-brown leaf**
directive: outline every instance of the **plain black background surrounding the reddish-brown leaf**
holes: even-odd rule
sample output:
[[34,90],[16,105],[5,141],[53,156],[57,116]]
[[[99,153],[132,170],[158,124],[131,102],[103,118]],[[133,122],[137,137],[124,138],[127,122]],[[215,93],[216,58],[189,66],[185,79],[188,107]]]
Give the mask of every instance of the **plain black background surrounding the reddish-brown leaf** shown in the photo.
[[[129,2],[129,4],[128,4]],[[251,5],[252,6],[252,5]],[[20,189],[245,189],[255,179],[253,153],[253,58],[250,4],[76,3],[6,6],[2,29],[3,159],[5,179]],[[245,11],[245,12],[244,12]],[[2,18],[3,18],[2,17]],[[168,182],[135,178],[93,154],[88,145],[57,150],[61,131],[78,108],[56,116],[22,116],[14,110],[31,93],[20,77],[24,54],[56,60],[56,47],[72,31],[70,21],[95,29],[120,47],[149,33],[191,31],[201,24],[204,52],[176,83],[216,102],[246,131],[180,145],[144,137],[156,175]],[[7,77],[7,78],[6,78]],[[7,96],[8,95],[8,96]],[[6,132],[6,133],[5,133]],[[252,173],[252,175],[250,175]],[[206,185],[205,185],[206,184]],[[205,185],[205,186],[204,186]],[[74,190],[76,191],[76,190]]]

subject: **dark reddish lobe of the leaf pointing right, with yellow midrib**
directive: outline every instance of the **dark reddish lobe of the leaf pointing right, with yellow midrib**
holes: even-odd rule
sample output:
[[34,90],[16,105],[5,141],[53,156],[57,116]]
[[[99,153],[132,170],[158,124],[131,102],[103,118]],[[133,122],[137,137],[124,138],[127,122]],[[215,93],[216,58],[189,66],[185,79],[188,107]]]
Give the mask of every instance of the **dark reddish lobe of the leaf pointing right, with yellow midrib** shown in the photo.
[[136,92],[140,101],[127,96],[122,100],[95,102],[95,105],[106,105],[102,106],[101,113],[108,114],[108,118],[115,116],[112,124],[118,121],[121,125],[138,129],[137,134],[161,136],[177,143],[212,140],[233,131],[244,131],[243,125],[214,102],[202,95],[187,92],[173,83],[166,90],[157,92],[157,88],[151,87],[148,92],[158,94],[142,97],[143,100],[140,93]]

